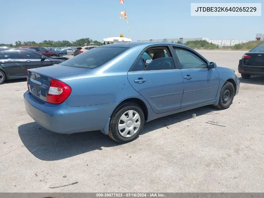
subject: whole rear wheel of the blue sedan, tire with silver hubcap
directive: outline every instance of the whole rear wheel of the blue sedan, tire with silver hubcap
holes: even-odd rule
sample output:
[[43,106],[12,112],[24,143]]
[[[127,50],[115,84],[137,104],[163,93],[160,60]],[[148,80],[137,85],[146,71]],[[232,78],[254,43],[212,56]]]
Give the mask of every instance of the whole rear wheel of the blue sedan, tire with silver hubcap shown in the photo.
[[[135,116],[137,116],[137,119]],[[140,106],[132,102],[123,103],[112,114],[108,135],[120,143],[130,142],[138,137],[138,134],[144,126],[144,121],[144,113]],[[122,128],[122,124],[124,124],[124,128]],[[121,125],[119,129],[118,125]]]

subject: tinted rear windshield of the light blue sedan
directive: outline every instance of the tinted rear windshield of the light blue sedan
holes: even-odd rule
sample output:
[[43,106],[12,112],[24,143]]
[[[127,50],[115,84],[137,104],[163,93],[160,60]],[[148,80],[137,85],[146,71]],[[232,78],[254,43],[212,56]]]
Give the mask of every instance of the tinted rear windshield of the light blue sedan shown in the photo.
[[122,47],[93,48],[65,62],[60,63],[60,65],[68,67],[94,69],[107,63],[122,52],[126,51],[127,49],[128,48]]

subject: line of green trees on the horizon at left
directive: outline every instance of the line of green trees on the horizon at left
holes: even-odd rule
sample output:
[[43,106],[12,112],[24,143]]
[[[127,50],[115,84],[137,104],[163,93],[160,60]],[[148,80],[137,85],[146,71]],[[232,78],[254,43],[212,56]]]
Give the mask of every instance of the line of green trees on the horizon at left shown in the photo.
[[0,46],[7,46],[7,47],[19,47],[19,46],[43,46],[43,47],[82,47],[86,45],[103,45],[102,42],[97,41],[97,40],[92,40],[90,38],[81,38],[77,39],[76,41],[67,41],[67,40],[62,40],[62,41],[52,41],[52,40],[44,40],[40,43],[37,43],[35,41],[16,41],[15,45],[11,44],[6,44],[6,43],[0,43]]

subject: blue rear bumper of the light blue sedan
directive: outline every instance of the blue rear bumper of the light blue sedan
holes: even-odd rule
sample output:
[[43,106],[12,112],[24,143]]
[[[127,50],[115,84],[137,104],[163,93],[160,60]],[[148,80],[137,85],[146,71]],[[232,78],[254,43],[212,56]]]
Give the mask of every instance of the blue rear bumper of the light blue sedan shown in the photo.
[[72,134],[85,131],[103,130],[116,103],[83,107],[62,104],[41,103],[27,91],[24,93],[27,113],[44,128],[60,133]]

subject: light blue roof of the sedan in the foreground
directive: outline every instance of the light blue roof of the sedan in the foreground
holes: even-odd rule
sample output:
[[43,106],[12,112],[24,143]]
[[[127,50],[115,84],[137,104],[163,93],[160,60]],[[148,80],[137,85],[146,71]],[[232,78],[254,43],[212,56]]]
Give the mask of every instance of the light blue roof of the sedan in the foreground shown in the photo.
[[150,46],[150,45],[158,45],[158,44],[170,44],[170,45],[178,45],[178,46],[185,46],[183,44],[178,43],[166,43],[166,42],[123,42],[123,43],[112,43],[112,44],[106,44],[99,47],[124,47],[124,48],[131,48],[133,46],[142,45],[144,47]]

